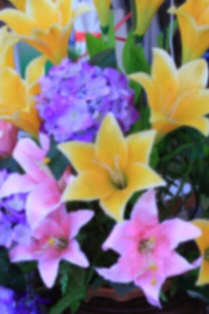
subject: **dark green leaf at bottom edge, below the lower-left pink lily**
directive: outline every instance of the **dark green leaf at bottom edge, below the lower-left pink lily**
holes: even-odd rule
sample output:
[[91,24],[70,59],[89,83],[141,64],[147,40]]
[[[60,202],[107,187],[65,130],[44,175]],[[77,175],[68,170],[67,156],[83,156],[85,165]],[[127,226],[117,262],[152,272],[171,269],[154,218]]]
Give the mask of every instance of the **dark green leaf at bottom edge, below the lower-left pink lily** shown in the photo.
[[76,301],[84,300],[86,297],[86,287],[75,288],[67,293],[59,302],[53,306],[49,314],[62,314],[62,312]]

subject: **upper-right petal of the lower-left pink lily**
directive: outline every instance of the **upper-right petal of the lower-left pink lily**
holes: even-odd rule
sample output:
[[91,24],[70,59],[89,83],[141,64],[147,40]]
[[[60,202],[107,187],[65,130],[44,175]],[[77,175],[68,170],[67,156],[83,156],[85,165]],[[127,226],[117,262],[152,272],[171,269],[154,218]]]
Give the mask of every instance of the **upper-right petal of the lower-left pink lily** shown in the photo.
[[63,220],[63,228],[65,232],[70,232],[70,238],[74,238],[79,230],[87,224],[89,220],[94,216],[94,212],[90,210],[78,210],[76,212],[71,212],[68,215],[68,218]]

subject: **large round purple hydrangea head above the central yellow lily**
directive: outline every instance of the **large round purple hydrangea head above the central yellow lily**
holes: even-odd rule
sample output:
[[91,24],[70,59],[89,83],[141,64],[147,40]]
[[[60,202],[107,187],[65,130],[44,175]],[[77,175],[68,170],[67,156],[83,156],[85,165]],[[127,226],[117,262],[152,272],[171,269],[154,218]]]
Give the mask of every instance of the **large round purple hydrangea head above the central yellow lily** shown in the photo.
[[42,92],[36,97],[43,128],[57,142],[71,139],[92,141],[108,112],[124,132],[138,119],[134,92],[125,75],[87,62],[64,59],[40,79]]

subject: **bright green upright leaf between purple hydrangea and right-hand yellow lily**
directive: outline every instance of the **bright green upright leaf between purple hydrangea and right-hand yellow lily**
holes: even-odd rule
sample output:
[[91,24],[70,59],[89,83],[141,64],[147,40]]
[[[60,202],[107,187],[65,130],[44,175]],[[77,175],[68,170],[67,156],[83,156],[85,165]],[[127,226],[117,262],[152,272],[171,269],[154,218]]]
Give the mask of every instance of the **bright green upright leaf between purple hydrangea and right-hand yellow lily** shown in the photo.
[[122,58],[123,67],[127,74],[135,72],[150,73],[150,66],[146,59],[143,46],[135,44],[133,30],[130,31],[126,40]]

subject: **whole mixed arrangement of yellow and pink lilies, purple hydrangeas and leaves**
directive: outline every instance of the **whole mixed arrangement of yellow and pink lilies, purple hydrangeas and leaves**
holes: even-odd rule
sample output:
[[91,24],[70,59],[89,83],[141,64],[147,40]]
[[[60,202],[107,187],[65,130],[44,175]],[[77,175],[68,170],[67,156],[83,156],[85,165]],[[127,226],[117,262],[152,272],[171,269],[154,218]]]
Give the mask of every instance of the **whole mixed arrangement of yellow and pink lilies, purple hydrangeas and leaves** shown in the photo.
[[[100,285],[141,289],[159,308],[182,288],[209,302],[209,2],[170,7],[150,65],[143,38],[164,2],[134,0],[124,69],[111,1],[94,1],[102,35],[86,35],[88,61],[68,42],[90,6],[10,2],[0,12],[2,312],[41,313],[56,291],[49,312],[76,313]],[[19,41],[40,52],[23,77]]]

